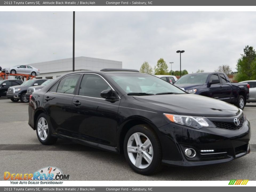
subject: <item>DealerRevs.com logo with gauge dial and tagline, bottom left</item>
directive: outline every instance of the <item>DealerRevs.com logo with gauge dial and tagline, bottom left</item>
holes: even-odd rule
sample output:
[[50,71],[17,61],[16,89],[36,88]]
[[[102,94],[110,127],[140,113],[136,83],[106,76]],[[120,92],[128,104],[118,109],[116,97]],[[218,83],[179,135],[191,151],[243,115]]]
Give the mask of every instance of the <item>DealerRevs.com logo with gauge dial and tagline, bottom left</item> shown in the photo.
[[[3,175],[4,180],[12,180],[11,184],[39,184],[39,181],[63,181],[63,180],[69,180],[69,175],[65,175],[62,173],[60,169],[57,167],[45,167],[42,169],[39,169],[38,171],[34,173],[10,173],[9,171],[5,171]],[[18,180],[18,181],[14,181]],[[38,182],[32,182],[32,181],[38,181]],[[63,182],[40,182],[40,184],[62,184]]]

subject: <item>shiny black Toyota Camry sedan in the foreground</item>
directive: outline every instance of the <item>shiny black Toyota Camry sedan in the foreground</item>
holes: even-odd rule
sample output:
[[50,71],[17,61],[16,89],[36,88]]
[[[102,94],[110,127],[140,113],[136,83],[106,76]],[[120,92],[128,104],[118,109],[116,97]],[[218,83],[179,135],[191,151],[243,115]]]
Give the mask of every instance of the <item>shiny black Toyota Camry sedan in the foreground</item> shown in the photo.
[[207,165],[250,153],[241,109],[137,70],[63,75],[31,95],[29,125],[44,145],[62,138],[124,153],[145,175],[161,164]]

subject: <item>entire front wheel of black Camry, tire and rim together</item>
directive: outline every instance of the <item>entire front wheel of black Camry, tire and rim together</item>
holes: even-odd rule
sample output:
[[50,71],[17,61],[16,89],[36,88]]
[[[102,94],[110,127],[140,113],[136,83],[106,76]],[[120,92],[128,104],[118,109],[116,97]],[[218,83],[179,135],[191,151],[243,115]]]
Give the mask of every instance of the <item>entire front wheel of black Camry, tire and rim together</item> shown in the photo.
[[162,148],[149,125],[135,125],[127,132],[124,153],[130,167],[139,174],[150,175],[160,170]]

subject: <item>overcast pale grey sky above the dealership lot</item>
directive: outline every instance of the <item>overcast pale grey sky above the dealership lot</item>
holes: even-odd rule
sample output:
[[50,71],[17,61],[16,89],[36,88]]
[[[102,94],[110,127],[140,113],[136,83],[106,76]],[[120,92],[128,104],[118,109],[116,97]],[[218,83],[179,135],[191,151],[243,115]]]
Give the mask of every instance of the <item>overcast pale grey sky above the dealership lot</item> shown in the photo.
[[[72,57],[73,12],[0,12],[0,66]],[[256,46],[256,12],[76,12],[75,57],[213,71]]]

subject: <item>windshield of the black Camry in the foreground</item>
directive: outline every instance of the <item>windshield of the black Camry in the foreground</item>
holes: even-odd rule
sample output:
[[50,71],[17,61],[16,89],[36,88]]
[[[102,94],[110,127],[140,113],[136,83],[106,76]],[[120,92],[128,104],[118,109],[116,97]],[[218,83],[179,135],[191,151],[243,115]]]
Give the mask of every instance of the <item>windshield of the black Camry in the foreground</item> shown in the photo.
[[141,73],[109,73],[107,75],[110,76],[127,94],[186,94],[186,92],[153,75]]

